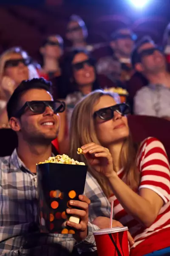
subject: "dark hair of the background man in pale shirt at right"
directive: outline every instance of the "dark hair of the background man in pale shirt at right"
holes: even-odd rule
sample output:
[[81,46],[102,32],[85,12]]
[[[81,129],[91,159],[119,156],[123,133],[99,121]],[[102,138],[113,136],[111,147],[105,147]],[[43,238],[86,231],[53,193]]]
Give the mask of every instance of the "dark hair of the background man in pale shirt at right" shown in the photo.
[[141,62],[140,55],[139,55],[139,48],[147,43],[154,44],[154,41],[150,36],[143,37],[137,44],[136,47],[133,49],[132,55],[131,55],[131,64],[133,69],[135,69],[135,64]]

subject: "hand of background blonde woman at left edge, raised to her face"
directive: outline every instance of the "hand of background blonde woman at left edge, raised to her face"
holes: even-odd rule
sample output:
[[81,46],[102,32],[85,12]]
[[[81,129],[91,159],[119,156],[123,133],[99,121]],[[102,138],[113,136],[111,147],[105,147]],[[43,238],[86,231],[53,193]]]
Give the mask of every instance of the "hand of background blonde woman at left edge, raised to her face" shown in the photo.
[[6,96],[7,101],[9,100],[12,93],[14,92],[15,87],[16,87],[16,84],[15,84],[14,80],[12,80],[8,76],[3,77],[2,81],[1,81],[1,88]]

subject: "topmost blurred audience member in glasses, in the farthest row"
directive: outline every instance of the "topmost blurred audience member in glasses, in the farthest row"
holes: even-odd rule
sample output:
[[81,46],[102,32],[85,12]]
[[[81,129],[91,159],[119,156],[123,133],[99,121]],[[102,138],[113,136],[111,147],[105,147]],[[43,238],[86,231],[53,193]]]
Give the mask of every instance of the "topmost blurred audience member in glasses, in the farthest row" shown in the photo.
[[66,31],[66,38],[71,42],[70,50],[81,49],[91,51],[92,48],[87,44],[88,30],[85,22],[77,15],[71,15]]

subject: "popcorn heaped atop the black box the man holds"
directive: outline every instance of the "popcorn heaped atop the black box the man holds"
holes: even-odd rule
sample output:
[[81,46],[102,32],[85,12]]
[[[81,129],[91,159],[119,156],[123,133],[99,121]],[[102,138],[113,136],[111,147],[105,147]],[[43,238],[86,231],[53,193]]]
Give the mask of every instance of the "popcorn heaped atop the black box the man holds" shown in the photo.
[[49,157],[48,160],[45,160],[45,162],[42,163],[64,163],[64,164],[74,164],[74,165],[85,165],[83,162],[78,162],[74,160],[73,158],[68,157],[68,155],[57,155],[56,157]]

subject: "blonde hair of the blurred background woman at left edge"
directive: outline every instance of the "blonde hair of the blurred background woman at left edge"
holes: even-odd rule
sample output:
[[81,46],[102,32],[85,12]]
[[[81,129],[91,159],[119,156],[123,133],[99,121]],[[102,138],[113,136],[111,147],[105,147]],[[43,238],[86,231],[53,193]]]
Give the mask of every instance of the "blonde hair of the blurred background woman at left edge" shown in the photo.
[[[6,63],[6,61],[11,59],[11,54],[13,54],[13,53],[20,54],[23,58],[28,58],[28,53],[20,47],[13,47],[13,48],[10,48],[10,49],[6,50],[5,52],[3,52],[0,55],[0,84],[1,84],[1,81],[4,76],[5,63]],[[35,69],[35,67],[32,64],[28,65],[28,71],[29,71],[29,79],[39,77],[37,70]]]

